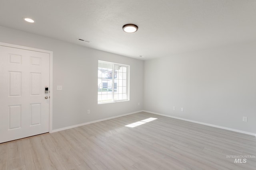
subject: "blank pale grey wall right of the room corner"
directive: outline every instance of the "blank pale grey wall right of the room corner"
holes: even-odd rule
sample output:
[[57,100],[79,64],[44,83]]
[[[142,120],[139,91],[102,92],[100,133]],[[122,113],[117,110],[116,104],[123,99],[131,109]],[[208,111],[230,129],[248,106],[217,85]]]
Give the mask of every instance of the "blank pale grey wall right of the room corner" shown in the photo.
[[144,109],[256,133],[255,74],[256,42],[145,61]]

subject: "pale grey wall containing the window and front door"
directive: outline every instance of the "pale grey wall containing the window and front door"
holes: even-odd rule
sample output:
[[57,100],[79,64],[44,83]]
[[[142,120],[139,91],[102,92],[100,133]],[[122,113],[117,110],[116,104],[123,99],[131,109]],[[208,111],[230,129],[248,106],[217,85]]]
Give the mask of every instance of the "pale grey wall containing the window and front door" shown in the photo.
[[[144,62],[141,60],[6,27],[0,27],[0,41],[53,51],[53,129],[143,109]],[[130,101],[97,104],[98,60],[130,65]],[[57,91],[57,85],[62,85],[63,90]]]

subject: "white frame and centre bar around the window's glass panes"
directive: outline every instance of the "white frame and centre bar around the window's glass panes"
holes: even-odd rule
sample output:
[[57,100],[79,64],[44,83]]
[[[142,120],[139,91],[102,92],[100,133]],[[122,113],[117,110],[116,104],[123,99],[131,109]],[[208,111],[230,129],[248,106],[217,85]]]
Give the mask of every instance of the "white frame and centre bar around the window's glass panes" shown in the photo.
[[[98,96],[97,96],[97,100],[98,100],[98,104],[106,104],[106,103],[113,103],[113,102],[124,102],[124,101],[129,101],[130,100],[130,65],[126,65],[126,64],[119,64],[119,63],[112,63],[112,62],[108,62],[108,61],[101,61],[98,60],[98,65],[99,63],[107,63],[107,64],[112,64],[112,100],[111,101],[107,101],[107,102],[99,102],[98,100]],[[115,66],[122,66],[122,67],[126,67],[126,99],[121,99],[121,100],[115,100],[114,99],[114,68]],[[99,67],[98,67],[99,68]],[[98,77],[99,78],[99,77]],[[125,79],[122,79],[125,80]],[[103,86],[103,84],[102,84]],[[98,86],[99,87],[99,86]],[[117,90],[118,90],[118,86],[117,86]],[[99,95],[99,94],[98,94]]]

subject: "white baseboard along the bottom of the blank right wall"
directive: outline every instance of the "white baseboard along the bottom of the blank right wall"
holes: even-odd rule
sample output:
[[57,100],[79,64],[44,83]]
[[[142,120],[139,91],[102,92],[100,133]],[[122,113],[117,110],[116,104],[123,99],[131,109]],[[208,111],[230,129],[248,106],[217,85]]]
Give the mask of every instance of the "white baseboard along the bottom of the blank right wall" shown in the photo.
[[144,111],[144,112],[148,112],[148,113],[152,113],[152,114],[155,114],[155,115],[161,115],[161,116],[171,117],[171,118],[174,118],[174,119],[180,119],[180,120],[184,120],[184,121],[189,121],[189,122],[192,122],[192,123],[198,123],[198,124],[201,124],[201,125],[206,125],[206,126],[211,126],[211,127],[217,127],[217,128],[220,128],[220,129],[225,129],[225,130],[234,131],[234,132],[238,132],[238,133],[244,133],[244,134],[246,134],[246,135],[252,135],[252,136],[255,136],[255,137],[256,137],[256,134],[255,134],[255,133],[251,133],[251,132],[247,132],[247,131],[240,131],[240,130],[232,129],[232,128],[229,128],[229,127],[223,127],[223,126],[219,126],[219,125],[213,125],[213,124],[210,124],[210,123],[204,123],[204,122],[200,122],[200,121],[194,121],[194,120],[190,120],[190,119],[184,119],[184,118],[180,118],[180,117],[165,115],[165,114],[156,113],[156,112],[147,111],[147,110],[143,110],[143,111]]

